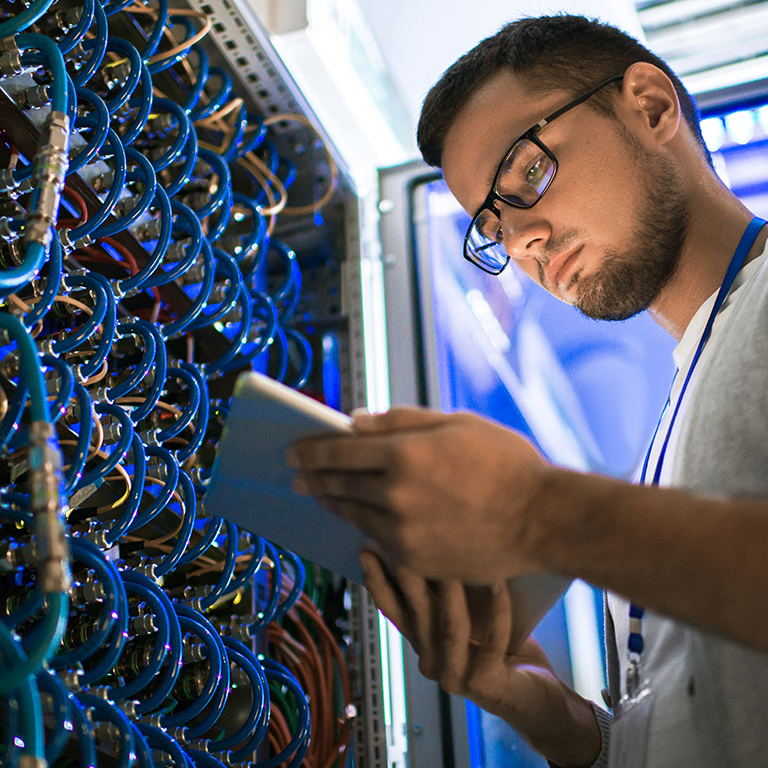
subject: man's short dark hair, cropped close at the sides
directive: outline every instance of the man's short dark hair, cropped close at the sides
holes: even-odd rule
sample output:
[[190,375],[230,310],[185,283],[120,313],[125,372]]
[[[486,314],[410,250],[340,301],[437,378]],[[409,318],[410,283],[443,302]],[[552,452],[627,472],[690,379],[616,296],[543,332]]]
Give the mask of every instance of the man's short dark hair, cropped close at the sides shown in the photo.
[[[445,138],[459,110],[478,88],[505,68],[544,93],[566,84],[566,90],[576,97],[612,75],[626,72],[638,61],[654,64],[672,81],[683,117],[711,163],[696,102],[669,66],[616,27],[566,14],[513,21],[449,67],[424,99],[417,131],[421,154],[427,164],[441,167]],[[609,93],[600,92],[587,104],[615,117]]]

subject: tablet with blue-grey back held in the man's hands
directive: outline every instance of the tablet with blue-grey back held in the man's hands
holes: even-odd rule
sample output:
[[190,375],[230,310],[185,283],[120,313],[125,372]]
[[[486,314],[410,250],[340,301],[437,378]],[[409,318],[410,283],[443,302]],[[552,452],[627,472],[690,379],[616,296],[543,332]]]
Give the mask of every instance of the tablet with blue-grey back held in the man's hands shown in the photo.
[[[288,448],[304,437],[352,431],[352,420],[259,373],[242,374],[235,385],[205,508],[301,557],[362,584],[360,550],[370,540],[357,528],[297,494]],[[374,547],[375,548],[375,547]],[[507,582],[517,650],[565,592],[569,580],[535,574]],[[491,593],[467,586],[473,637],[487,625]]]

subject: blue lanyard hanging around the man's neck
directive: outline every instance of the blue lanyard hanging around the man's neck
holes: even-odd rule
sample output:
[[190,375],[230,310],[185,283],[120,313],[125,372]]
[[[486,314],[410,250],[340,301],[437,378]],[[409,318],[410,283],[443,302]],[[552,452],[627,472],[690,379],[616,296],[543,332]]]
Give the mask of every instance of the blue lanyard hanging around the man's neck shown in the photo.
[[[683,386],[680,388],[680,394],[677,397],[677,402],[675,403],[675,410],[672,413],[672,418],[669,420],[669,426],[667,427],[667,434],[664,437],[664,442],[661,446],[661,450],[659,451],[659,459],[656,462],[656,468],[654,469],[654,472],[653,472],[653,480],[651,481],[650,485],[657,486],[659,484],[659,480],[661,478],[661,468],[664,464],[664,457],[666,456],[666,453],[667,453],[667,446],[669,445],[669,439],[670,439],[670,436],[672,435],[672,428],[674,427],[675,419],[677,419],[677,414],[680,411],[680,405],[683,402],[685,391],[688,388],[689,382],[691,381],[691,376],[693,375],[693,369],[696,367],[696,364],[699,362],[701,353],[704,350],[704,347],[706,346],[707,341],[709,341],[709,336],[712,333],[712,326],[715,324],[715,318],[717,317],[717,314],[720,311],[720,308],[722,307],[726,296],[728,296],[728,293],[733,287],[733,281],[736,279],[736,275],[739,273],[739,270],[744,265],[744,260],[747,258],[747,254],[751,250],[752,246],[755,244],[755,240],[757,239],[757,236],[760,233],[760,230],[765,225],[765,223],[766,223],[765,221],[763,221],[761,218],[757,216],[755,216],[755,218],[752,219],[746,231],[742,235],[741,240],[739,241],[739,245],[736,248],[736,253],[733,254],[733,258],[731,259],[731,263],[728,265],[728,270],[725,273],[725,277],[723,278],[723,283],[720,286],[720,290],[717,293],[717,298],[715,299],[714,306],[712,307],[712,310],[709,313],[707,324],[704,326],[704,332],[701,334],[701,338],[699,339],[699,345],[696,348],[696,352],[693,355],[693,360],[691,361],[691,365],[688,368],[688,373],[686,374],[685,381],[683,382]],[[670,393],[670,397],[671,397],[671,393]],[[648,463],[650,462],[650,458],[651,458],[651,449],[653,447],[653,444],[656,442],[656,435],[661,427],[661,422],[664,419],[664,414],[666,413],[669,405],[670,405],[670,401],[669,399],[667,399],[667,404],[664,406],[664,410],[662,411],[661,416],[659,418],[659,423],[656,425],[656,429],[654,430],[653,437],[651,438],[651,444],[648,446],[648,452],[645,454],[645,461],[643,462],[643,471],[642,471],[642,474],[640,475],[640,483],[642,485],[646,485],[646,476],[648,473]],[[640,662],[640,655],[643,652],[643,645],[644,645],[643,623],[642,623],[643,613],[644,613],[644,609],[641,608],[639,605],[636,605],[635,603],[630,604],[629,641],[627,643],[628,650],[629,650],[629,658],[630,658],[630,669],[627,674],[627,693],[630,696],[635,695],[635,693],[637,692],[637,687],[640,682],[639,662]]]

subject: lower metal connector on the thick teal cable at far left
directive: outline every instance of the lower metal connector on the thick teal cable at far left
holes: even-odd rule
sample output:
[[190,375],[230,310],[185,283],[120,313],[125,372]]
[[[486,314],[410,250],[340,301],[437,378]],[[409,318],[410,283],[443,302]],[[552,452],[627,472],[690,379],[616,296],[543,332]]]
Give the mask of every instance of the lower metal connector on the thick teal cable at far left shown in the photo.
[[61,454],[53,426],[33,421],[29,429],[30,510],[35,517],[36,553],[44,593],[68,592],[72,585],[69,547],[62,522]]

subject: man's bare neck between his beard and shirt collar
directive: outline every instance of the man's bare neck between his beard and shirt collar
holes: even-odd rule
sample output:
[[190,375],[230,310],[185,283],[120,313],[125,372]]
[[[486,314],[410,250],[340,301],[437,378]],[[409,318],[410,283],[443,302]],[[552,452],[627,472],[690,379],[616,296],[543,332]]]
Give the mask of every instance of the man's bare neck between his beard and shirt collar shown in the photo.
[[[720,287],[736,247],[753,214],[719,181],[698,190],[675,274],[649,312],[678,341],[703,302]],[[745,264],[765,248],[763,227]]]

